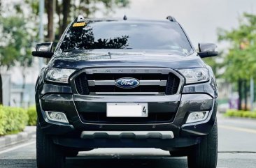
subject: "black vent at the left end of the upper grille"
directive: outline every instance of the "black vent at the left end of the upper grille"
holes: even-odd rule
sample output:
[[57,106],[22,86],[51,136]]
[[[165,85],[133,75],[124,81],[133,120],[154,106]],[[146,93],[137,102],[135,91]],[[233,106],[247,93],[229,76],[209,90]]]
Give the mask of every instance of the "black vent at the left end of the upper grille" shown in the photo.
[[86,74],[82,73],[75,79],[76,89],[80,95],[89,95],[90,91],[88,88],[88,82]]

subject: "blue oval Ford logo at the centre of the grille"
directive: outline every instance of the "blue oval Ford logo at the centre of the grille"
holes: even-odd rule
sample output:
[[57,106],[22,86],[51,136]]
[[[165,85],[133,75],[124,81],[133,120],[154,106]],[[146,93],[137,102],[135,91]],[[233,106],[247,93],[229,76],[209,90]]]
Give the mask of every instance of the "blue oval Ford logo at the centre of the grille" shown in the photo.
[[115,86],[118,86],[122,89],[132,89],[136,88],[140,82],[134,78],[120,78],[115,81]]

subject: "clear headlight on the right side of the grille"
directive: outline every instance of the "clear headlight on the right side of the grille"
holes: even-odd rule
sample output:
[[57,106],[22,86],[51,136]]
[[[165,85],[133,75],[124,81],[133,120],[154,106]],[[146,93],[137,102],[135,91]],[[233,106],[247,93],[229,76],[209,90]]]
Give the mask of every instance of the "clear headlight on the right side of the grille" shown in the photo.
[[178,70],[186,79],[186,84],[206,82],[209,79],[209,71],[206,68],[192,68]]

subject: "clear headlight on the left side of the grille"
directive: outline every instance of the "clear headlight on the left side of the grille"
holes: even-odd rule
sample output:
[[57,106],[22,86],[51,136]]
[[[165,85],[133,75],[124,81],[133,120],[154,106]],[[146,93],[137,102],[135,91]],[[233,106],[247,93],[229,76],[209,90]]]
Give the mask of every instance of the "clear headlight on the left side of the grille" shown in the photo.
[[59,83],[69,83],[69,76],[75,72],[75,70],[71,69],[57,69],[52,68],[48,70],[45,75],[45,79],[50,82],[59,82]]

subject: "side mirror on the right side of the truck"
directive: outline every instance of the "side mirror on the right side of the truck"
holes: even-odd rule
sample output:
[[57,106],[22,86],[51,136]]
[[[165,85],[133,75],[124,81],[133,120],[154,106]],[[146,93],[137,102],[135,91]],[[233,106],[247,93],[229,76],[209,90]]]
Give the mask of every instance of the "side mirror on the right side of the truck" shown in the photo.
[[201,58],[218,56],[219,54],[217,51],[215,51],[215,49],[217,48],[217,45],[213,43],[199,43],[198,47],[199,47],[198,54]]

